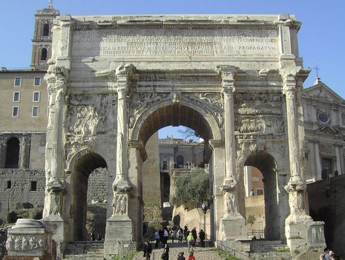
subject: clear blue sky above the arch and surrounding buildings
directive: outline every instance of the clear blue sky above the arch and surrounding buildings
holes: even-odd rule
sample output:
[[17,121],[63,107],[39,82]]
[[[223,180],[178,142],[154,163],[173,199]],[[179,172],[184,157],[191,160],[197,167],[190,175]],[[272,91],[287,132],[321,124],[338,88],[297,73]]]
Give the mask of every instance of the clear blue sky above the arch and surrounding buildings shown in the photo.
[[[48,0],[0,0],[0,66],[28,68],[31,62],[34,14]],[[304,68],[319,68],[319,77],[345,98],[345,1],[342,0],[54,0],[63,15],[135,14],[293,14],[302,22],[298,33],[299,56]],[[315,69],[304,88],[315,82]],[[162,137],[170,135],[162,133]],[[174,136],[177,137],[177,135]]]

